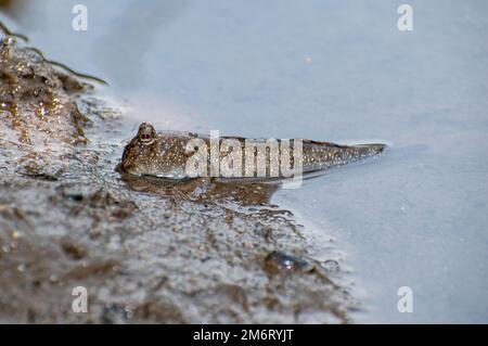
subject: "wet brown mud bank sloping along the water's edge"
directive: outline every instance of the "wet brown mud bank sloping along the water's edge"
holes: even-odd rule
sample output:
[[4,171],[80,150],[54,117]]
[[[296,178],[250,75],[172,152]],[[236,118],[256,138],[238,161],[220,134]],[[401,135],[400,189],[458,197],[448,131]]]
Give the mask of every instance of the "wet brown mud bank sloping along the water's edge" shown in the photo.
[[35,50],[0,55],[1,322],[349,321],[277,187],[117,172],[117,112]]

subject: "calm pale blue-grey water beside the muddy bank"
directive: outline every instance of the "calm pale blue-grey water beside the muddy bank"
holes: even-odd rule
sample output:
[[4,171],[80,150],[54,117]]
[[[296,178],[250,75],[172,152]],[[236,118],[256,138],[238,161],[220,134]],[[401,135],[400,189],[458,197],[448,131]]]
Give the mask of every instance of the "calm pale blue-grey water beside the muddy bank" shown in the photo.
[[[488,2],[18,3],[1,18],[107,79],[133,127],[391,143],[273,202],[344,249],[358,321],[488,322]],[[70,28],[75,3],[88,31]]]

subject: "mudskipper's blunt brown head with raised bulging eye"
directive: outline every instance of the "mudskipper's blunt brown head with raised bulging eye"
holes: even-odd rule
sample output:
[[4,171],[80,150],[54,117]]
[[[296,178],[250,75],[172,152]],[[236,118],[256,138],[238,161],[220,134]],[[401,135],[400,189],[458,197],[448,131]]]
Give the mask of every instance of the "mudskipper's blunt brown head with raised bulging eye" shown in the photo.
[[145,175],[157,155],[157,132],[154,126],[142,123],[138,134],[124,149],[121,167],[131,175]]

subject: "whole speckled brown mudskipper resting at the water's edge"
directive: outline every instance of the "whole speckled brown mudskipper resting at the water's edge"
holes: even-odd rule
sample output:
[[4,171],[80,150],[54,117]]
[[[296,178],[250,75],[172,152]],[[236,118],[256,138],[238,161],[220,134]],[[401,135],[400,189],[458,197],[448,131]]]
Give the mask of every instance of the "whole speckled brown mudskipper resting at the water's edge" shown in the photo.
[[189,161],[201,158],[205,167],[200,177],[290,178],[371,157],[385,148],[385,144],[338,145],[310,140],[157,133],[153,126],[143,123],[126,146],[121,166],[132,175],[187,179],[194,177],[189,172]]

